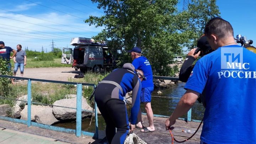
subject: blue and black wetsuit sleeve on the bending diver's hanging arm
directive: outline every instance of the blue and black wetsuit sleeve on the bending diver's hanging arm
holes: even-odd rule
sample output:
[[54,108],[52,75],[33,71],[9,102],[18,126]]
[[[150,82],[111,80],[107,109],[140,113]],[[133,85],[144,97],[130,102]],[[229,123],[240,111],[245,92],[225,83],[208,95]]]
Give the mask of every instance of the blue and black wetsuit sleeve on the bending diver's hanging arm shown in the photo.
[[137,121],[137,116],[140,108],[140,92],[142,85],[138,79],[136,85],[133,87],[132,93],[132,109],[131,109],[131,124],[135,124]]

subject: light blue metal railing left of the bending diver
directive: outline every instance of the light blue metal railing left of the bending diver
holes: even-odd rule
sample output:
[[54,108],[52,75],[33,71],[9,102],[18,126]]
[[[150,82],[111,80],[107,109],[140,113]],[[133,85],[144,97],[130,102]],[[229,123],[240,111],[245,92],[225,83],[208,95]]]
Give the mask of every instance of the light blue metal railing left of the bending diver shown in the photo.
[[[97,116],[97,104],[96,103],[95,103],[95,107],[94,107],[94,110],[95,110],[95,133],[86,132],[86,131],[81,130],[82,111],[88,111],[88,110],[82,110],[82,85],[92,86],[92,87],[95,88],[96,87],[95,84],[21,78],[21,77],[6,76],[6,75],[0,75],[0,77],[28,80],[28,83],[27,83],[27,93],[28,93],[27,94],[27,96],[28,96],[28,100],[27,100],[28,117],[27,117],[27,121],[23,120],[23,119],[16,119],[16,118],[4,117],[4,116],[0,116],[0,119],[5,120],[5,121],[10,121],[10,122],[15,122],[15,123],[26,124],[28,127],[34,126],[34,127],[54,130],[54,131],[58,131],[58,132],[76,134],[77,137],[80,137],[81,134],[83,134],[83,135],[87,135],[87,136],[90,136],[90,137],[98,138],[98,116]],[[76,109],[76,129],[62,128],[62,127],[56,127],[56,126],[51,126],[51,125],[42,124],[42,123],[31,122],[31,103],[36,103],[36,102],[31,102],[31,81],[42,81],[42,82],[51,82],[51,83],[58,83],[58,84],[76,85],[76,92],[77,92],[76,93],[76,108],[75,108]],[[6,99],[8,99],[8,98],[6,98]],[[39,103],[39,104],[42,104],[42,103]],[[62,107],[62,106],[57,106],[57,107]],[[69,108],[69,107],[64,107],[64,108]],[[74,109],[74,108],[72,108],[72,109]],[[92,111],[90,111],[90,112],[92,112]]]

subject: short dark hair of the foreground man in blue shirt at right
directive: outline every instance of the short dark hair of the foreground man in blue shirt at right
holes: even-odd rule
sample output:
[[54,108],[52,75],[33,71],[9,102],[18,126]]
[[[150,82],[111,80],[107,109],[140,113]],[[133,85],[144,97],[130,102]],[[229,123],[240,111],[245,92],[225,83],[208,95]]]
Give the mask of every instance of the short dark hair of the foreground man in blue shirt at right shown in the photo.
[[221,17],[214,17],[210,19],[205,28],[204,34],[209,37],[211,34],[215,34],[219,38],[227,38],[234,36],[233,27],[228,21],[223,20]]

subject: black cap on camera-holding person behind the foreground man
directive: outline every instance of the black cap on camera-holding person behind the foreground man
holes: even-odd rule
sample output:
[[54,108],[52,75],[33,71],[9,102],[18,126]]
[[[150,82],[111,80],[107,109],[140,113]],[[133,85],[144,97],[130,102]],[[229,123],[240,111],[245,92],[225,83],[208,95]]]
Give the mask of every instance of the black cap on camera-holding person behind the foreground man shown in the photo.
[[209,42],[207,41],[207,37],[203,35],[198,41],[197,41],[197,47],[201,48],[203,53],[201,52],[200,55],[206,55],[210,52],[212,52],[212,48],[210,47]]

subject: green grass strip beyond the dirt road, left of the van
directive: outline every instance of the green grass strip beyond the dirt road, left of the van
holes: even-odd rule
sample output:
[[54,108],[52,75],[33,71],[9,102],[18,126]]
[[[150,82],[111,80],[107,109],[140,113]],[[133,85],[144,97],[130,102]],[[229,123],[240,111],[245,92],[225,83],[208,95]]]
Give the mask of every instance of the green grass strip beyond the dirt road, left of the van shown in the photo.
[[[25,68],[56,68],[56,67],[71,67],[71,64],[61,64],[61,59],[53,59],[53,60],[42,60],[36,61],[31,58],[27,58],[27,65]],[[14,62],[11,59],[12,68],[14,67]]]

